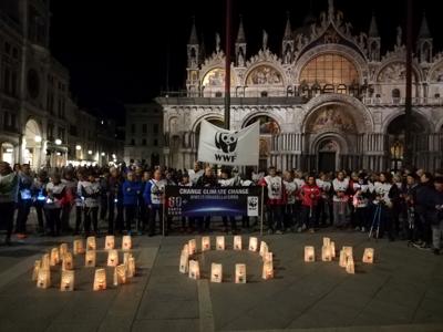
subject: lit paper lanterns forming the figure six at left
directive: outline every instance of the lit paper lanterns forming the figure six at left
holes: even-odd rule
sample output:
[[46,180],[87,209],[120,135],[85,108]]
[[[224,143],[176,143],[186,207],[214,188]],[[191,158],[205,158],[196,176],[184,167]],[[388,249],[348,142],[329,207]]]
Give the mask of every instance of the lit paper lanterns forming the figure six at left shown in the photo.
[[[119,264],[119,251],[114,249],[114,236],[107,236],[105,239],[105,250],[107,250],[107,267],[114,268],[114,286],[126,283],[127,279],[135,276],[135,258],[131,252],[123,253],[123,263]],[[32,281],[37,282],[38,288],[51,287],[51,267],[61,263],[61,291],[73,291],[75,283],[74,273],[74,255],[85,255],[84,267],[96,267],[96,240],[95,237],[86,239],[86,250],[84,249],[83,239],[75,239],[72,252],[69,250],[68,243],[61,243],[60,247],[51,249],[50,253],[44,253],[41,260],[35,260],[32,270]],[[124,236],[122,240],[122,249],[130,250],[132,248],[131,236]],[[96,269],[94,274],[93,290],[106,289],[106,271],[105,269]]]

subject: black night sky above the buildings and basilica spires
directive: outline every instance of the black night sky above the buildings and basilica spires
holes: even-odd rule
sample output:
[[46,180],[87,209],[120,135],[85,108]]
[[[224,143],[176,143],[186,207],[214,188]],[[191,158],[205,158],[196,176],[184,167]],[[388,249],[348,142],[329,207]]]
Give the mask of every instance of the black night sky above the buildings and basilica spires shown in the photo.
[[[253,0],[233,0],[233,35],[237,34],[239,14],[244,18],[247,58],[261,46],[261,31],[269,35],[268,45],[279,52],[290,12],[292,30],[302,25],[312,12],[318,18],[327,11],[327,0],[272,0],[267,6]],[[442,17],[440,1],[414,1],[414,31],[420,28],[423,10],[437,51],[442,50]],[[368,32],[375,12],[382,48],[395,41],[395,27],[405,37],[405,0],[336,0],[336,9],[353,31]],[[192,17],[197,33],[204,38],[206,52],[215,49],[215,33],[222,35],[224,49],[225,1],[51,1],[51,50],[71,72],[71,91],[78,104],[101,110],[110,116],[124,118],[123,104],[147,102],[166,90],[184,87],[186,75],[186,43]],[[233,43],[234,43],[233,40]],[[167,80],[167,68],[169,75]]]

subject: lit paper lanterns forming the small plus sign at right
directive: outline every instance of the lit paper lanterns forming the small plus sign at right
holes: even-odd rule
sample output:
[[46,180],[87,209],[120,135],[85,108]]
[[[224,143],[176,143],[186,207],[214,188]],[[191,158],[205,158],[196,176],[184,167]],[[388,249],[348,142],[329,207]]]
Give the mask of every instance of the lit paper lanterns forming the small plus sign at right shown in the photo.
[[[339,264],[342,268],[346,268],[348,273],[356,273],[354,269],[354,260],[352,247],[343,246],[340,250],[340,259]],[[323,238],[323,246],[321,247],[321,260],[322,261],[332,261],[336,258],[336,242],[331,241],[330,238]],[[374,249],[365,248],[363,252],[362,262],[364,263],[373,263],[374,258]],[[305,261],[313,262],[316,261],[316,250],[312,246],[305,247]]]

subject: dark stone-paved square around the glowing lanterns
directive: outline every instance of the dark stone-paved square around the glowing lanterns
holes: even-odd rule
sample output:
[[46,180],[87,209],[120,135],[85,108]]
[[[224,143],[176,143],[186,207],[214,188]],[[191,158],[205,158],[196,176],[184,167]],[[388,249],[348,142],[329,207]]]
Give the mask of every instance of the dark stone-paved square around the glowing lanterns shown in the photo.
[[[216,234],[210,234],[213,248]],[[443,260],[405,242],[368,240],[367,235],[322,230],[315,235],[264,236],[274,252],[275,278],[261,279],[261,258],[248,250],[198,255],[202,280],[178,272],[179,251],[200,236],[133,237],[137,274],[130,283],[92,291],[93,268],[75,257],[75,291],[60,292],[60,266],[52,288],[31,281],[33,261],[72,237],[34,238],[0,247],[0,331],[443,331]],[[356,274],[319,261],[322,237],[336,248],[352,246]],[[117,237],[119,245],[121,238]],[[103,248],[104,238],[97,247]],[[303,247],[315,246],[317,261],[303,262]],[[365,247],[373,264],[361,263]],[[122,253],[121,253],[122,259]],[[105,264],[100,250],[97,264]],[[210,283],[210,263],[223,263],[223,283]],[[235,284],[235,263],[247,264],[246,284]]]

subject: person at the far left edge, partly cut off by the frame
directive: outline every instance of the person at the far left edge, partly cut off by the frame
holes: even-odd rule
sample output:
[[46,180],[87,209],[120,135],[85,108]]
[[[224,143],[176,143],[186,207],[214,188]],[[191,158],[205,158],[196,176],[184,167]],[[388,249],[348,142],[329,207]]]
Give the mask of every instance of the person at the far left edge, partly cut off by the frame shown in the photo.
[[19,190],[19,177],[7,162],[0,162],[0,216],[7,229],[4,242],[11,246],[13,215]]

